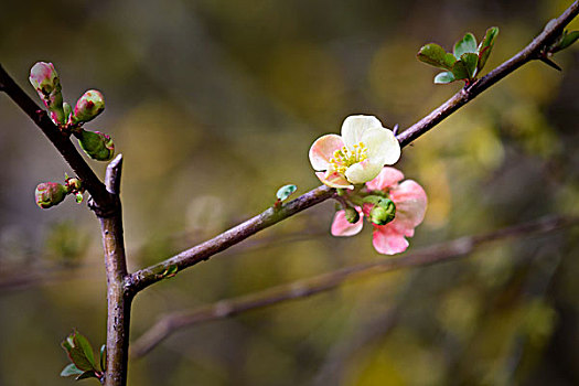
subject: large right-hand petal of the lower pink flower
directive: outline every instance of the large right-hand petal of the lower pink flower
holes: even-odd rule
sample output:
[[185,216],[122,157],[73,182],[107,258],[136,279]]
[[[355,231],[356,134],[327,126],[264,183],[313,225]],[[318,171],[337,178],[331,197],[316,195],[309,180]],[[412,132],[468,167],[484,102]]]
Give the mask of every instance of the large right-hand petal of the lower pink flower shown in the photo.
[[425,190],[417,182],[406,180],[390,190],[390,199],[396,204],[396,217],[389,225],[405,236],[412,236],[414,228],[425,218],[428,204]]

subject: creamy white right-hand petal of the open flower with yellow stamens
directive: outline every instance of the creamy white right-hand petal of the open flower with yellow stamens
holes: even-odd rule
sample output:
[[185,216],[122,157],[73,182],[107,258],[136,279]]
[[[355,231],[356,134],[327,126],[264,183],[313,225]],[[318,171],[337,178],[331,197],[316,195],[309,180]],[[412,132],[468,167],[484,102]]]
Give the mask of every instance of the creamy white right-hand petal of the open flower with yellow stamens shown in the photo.
[[400,143],[392,130],[382,126],[366,130],[362,135],[362,142],[366,146],[368,159],[372,162],[385,165],[394,164],[400,159]]

